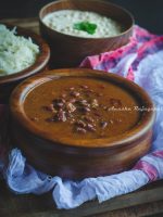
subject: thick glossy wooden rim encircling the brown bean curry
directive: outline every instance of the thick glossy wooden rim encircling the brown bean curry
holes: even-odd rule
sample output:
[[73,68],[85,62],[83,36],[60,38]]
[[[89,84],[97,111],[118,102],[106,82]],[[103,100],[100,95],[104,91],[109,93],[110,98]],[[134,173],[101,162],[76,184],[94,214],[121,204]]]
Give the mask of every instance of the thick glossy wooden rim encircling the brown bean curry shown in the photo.
[[[70,74],[67,74],[70,72]],[[88,75],[89,74],[89,75]],[[151,110],[142,115],[141,122],[136,125],[130,130],[125,131],[118,136],[102,138],[102,139],[87,139],[87,140],[70,140],[70,138],[60,138],[55,139],[52,136],[46,135],[46,132],[39,127],[37,127],[25,114],[23,102],[25,100],[26,94],[29,90],[35,89],[38,85],[42,82],[49,81],[54,78],[61,78],[62,76],[88,76],[88,77],[97,77],[97,78],[105,78],[111,79],[120,85],[130,89],[134,93],[136,93]],[[65,148],[73,149],[113,149],[118,148],[120,145],[127,145],[130,142],[136,141],[137,139],[142,138],[148,131],[151,129],[154,119],[155,119],[155,110],[154,104],[148,93],[139,87],[137,84],[112,73],[106,73],[102,71],[93,71],[87,68],[61,68],[47,71],[41,73],[40,75],[33,76],[21,85],[18,85],[13,91],[10,98],[10,110],[14,122],[21,124],[27,131],[32,132],[39,138],[47,140],[52,143],[52,145],[62,144]],[[93,145],[92,145],[93,144]]]

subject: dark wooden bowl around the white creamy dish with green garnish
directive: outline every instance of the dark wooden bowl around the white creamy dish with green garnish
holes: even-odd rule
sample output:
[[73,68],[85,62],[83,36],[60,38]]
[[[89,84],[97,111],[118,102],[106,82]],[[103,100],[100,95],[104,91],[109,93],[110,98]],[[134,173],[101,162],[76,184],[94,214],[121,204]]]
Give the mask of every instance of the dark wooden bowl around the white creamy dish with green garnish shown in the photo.
[[[115,37],[80,38],[64,35],[48,27],[42,18],[59,10],[92,11],[109,16],[122,24],[124,30]],[[134,17],[123,8],[100,0],[61,0],[45,5],[39,13],[40,34],[51,48],[51,65],[58,67],[76,67],[89,55],[115,50],[128,42],[133,33]]]

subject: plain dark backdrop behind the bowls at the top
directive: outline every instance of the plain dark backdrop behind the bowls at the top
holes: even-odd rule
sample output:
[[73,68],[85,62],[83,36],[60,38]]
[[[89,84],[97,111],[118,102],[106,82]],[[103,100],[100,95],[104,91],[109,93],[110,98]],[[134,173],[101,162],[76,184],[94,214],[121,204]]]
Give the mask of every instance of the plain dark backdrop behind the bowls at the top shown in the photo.
[[[128,9],[136,23],[152,33],[163,34],[163,0],[110,0]],[[0,0],[0,18],[37,16],[50,0]]]

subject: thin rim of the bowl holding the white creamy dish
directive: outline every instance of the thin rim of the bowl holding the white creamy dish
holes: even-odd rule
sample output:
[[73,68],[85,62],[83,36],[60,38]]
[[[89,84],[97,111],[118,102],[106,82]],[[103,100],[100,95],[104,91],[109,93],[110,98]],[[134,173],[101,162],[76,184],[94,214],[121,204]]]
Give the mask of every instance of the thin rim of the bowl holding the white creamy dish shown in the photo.
[[[112,5],[114,8],[117,8],[120,10],[122,10],[123,12],[125,12],[128,17],[130,18],[130,22],[131,22],[131,25],[129,28],[127,28],[126,30],[122,31],[121,34],[116,35],[116,36],[112,36],[112,37],[100,37],[100,38],[87,38],[87,37],[80,37],[80,36],[73,36],[73,35],[67,35],[67,34],[64,34],[64,33],[61,33],[61,31],[58,31],[51,27],[49,27],[48,25],[46,25],[46,23],[42,21],[42,12],[53,5],[53,4],[57,4],[57,3],[62,3],[62,2],[66,2],[67,0],[57,0],[57,1],[52,1],[48,4],[46,4],[45,7],[42,7],[39,11],[39,22],[41,25],[43,25],[43,27],[46,27],[47,29],[50,29],[52,33],[55,33],[55,34],[59,34],[59,35],[62,35],[62,36],[66,36],[66,37],[70,37],[70,38],[76,38],[76,39],[83,39],[83,40],[106,40],[106,39],[115,39],[115,38],[118,38],[121,36],[124,36],[125,34],[129,33],[133,30],[133,27],[135,25],[135,18],[134,18],[134,15],[125,8],[118,5],[118,4],[115,4],[115,3],[112,3],[112,2],[106,2],[106,1],[103,1],[103,0],[89,0],[89,2],[98,2],[98,3],[103,3],[103,4],[106,4],[106,5]],[[73,0],[74,1],[74,0]],[[75,1],[88,1],[88,0],[75,0]]]

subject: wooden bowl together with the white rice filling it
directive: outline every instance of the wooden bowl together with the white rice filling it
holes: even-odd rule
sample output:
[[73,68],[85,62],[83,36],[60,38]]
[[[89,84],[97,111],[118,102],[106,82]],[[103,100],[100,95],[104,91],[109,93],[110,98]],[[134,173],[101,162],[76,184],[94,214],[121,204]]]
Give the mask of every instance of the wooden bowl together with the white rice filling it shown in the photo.
[[[1,24],[3,25],[3,24]],[[16,56],[14,56],[14,49],[11,51],[10,49],[10,52],[8,51],[8,49],[5,49],[1,54],[2,54],[2,58],[1,58],[1,64],[0,64],[0,103],[8,103],[9,101],[9,98],[10,98],[10,94],[12,92],[12,90],[15,88],[15,86],[17,86],[17,84],[20,84],[22,80],[24,80],[25,78],[34,75],[34,74],[37,74],[37,73],[40,73],[42,72],[46,67],[47,67],[47,64],[49,62],[49,59],[50,59],[50,49],[49,49],[49,46],[47,44],[47,42],[40,37],[38,36],[37,34],[34,34],[33,31],[28,30],[28,29],[25,29],[25,28],[22,28],[22,27],[15,27],[13,25],[9,25],[9,24],[4,24],[4,26],[11,31],[16,31],[15,36],[21,36],[25,39],[27,39],[29,41],[28,43],[28,47],[32,47],[30,42],[34,43],[35,46],[37,46],[38,48],[38,52],[35,56],[35,60],[33,61],[33,63],[30,63],[28,66],[26,66],[25,68],[22,68],[21,71],[16,69],[15,68],[21,68],[21,61],[24,60],[25,61],[25,64],[24,65],[27,65],[27,62],[29,61],[30,59],[30,55],[27,55],[27,52],[28,52],[28,48],[26,46],[26,50],[23,50],[25,44],[24,44],[24,39],[22,39],[23,41],[21,41],[22,44],[17,44],[17,48],[22,49],[22,52],[21,52],[21,49],[18,50],[17,52],[17,49],[16,49],[16,42],[18,41],[14,41],[12,43],[12,40],[10,40],[10,38],[7,40],[5,38],[5,41],[9,42],[10,47],[13,46],[15,47],[15,53],[16,53]],[[18,43],[18,42],[17,42]],[[3,46],[3,44],[0,44],[0,46]],[[32,49],[34,49],[32,47]],[[12,56],[12,52],[13,52],[13,56]],[[4,55],[4,56],[3,56]],[[23,59],[23,55],[24,59]],[[3,64],[3,60],[5,58],[5,61],[7,63]],[[15,60],[13,60],[13,58]],[[10,68],[10,64],[11,64],[11,68]],[[3,65],[5,65],[3,67]],[[11,69],[15,69],[14,73],[10,72],[3,72],[4,68],[5,71],[8,71],[8,66],[9,66],[9,71]]]

